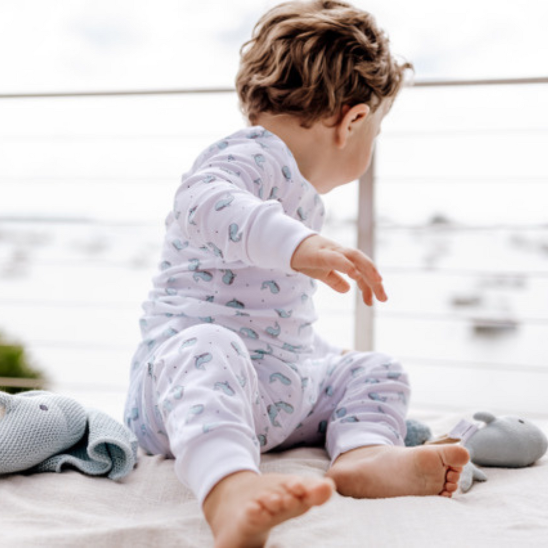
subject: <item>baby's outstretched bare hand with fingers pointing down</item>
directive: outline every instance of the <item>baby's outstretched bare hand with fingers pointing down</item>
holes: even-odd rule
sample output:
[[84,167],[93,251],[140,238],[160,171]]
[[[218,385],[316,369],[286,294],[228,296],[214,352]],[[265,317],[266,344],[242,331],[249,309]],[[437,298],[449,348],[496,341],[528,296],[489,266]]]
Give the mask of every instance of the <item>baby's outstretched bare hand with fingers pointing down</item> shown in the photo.
[[386,301],[383,278],[373,261],[358,249],[339,246],[338,243],[313,235],[304,239],[295,249],[291,267],[311,278],[327,283],[339,293],[346,293],[350,284],[338,273],[356,280],[363,295],[363,302],[373,305],[373,294],[379,301]]

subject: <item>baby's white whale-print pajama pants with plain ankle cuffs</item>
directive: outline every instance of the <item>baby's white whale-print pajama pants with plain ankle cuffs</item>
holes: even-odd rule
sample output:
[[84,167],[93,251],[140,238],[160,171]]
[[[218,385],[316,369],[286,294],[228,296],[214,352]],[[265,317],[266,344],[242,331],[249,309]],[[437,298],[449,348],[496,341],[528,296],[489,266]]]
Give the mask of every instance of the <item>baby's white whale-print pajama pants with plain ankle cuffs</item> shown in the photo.
[[403,445],[409,386],[375,352],[295,363],[252,360],[238,334],[201,324],[159,346],[127,403],[141,446],[175,458],[200,503],[223,477],[259,471],[260,453],[324,445],[332,461],[362,446]]

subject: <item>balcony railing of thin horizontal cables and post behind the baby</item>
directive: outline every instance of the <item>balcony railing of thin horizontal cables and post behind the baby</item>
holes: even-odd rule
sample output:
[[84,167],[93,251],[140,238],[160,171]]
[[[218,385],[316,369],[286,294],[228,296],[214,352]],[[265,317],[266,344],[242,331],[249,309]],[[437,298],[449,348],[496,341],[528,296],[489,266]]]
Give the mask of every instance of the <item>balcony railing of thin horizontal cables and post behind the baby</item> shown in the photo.
[[[469,80],[460,80],[460,81],[434,81],[434,80],[419,80],[412,83],[411,87],[414,88],[442,88],[442,87],[472,87],[472,86],[483,86],[483,85],[531,85],[531,84],[548,84],[548,77],[532,77],[532,78],[507,78],[507,79],[469,79]],[[78,98],[124,98],[130,96],[162,96],[162,95],[208,95],[208,94],[233,94],[235,90],[233,88],[188,88],[188,89],[149,89],[149,90],[104,90],[104,91],[82,91],[82,92],[44,92],[44,93],[1,93],[0,100],[49,100],[49,99],[78,99]],[[508,127],[502,128],[455,128],[455,129],[417,129],[417,130],[394,130],[390,133],[383,134],[383,139],[387,140],[397,140],[397,139],[421,139],[421,138],[431,138],[436,136],[439,138],[446,138],[446,136],[466,139],[468,136],[490,136],[493,134],[507,134],[507,135],[516,135],[516,134],[531,134],[531,135],[543,135],[548,132],[548,127],[517,127],[515,123],[510,124]],[[199,133],[199,132],[198,132]],[[178,140],[186,141],[191,140],[196,137],[196,133],[151,133],[151,134],[135,134],[135,133],[116,133],[116,134],[68,134],[60,133],[54,135],[32,135],[32,134],[14,134],[14,135],[0,135],[0,141],[36,141],[36,142],[53,142],[62,146],[65,142],[81,142],[83,145],[86,145],[88,142],[90,146],[93,146],[94,142],[101,141],[149,141],[149,140]],[[198,138],[206,139],[208,134],[199,133]],[[405,182],[406,184],[413,185],[415,182],[420,182],[421,184],[447,184],[447,185],[472,185],[472,184],[486,184],[494,185],[500,184],[500,182],[506,182],[508,184],[514,184],[517,182],[529,182],[531,184],[544,184],[546,183],[546,178],[542,176],[536,176],[534,174],[524,174],[521,175],[507,175],[503,177],[489,176],[489,175],[474,175],[469,174],[466,176],[456,176],[456,175],[447,175],[442,174],[440,176],[432,175],[393,175],[393,174],[382,174],[379,178],[376,176],[374,169],[370,170],[368,174],[361,180],[361,194],[362,198],[360,200],[360,209],[358,214],[358,219],[356,221],[338,221],[332,220],[329,222],[333,226],[348,227],[352,230],[358,230],[358,242],[359,247],[366,250],[370,255],[375,255],[375,238],[377,237],[379,231],[383,233],[399,233],[399,232],[408,232],[408,233],[429,233],[429,232],[443,232],[443,233],[486,233],[489,231],[511,231],[516,233],[531,232],[536,231],[542,233],[548,230],[548,222],[544,224],[543,222],[531,222],[527,224],[512,224],[511,222],[505,223],[486,223],[486,224],[471,224],[471,225],[460,225],[457,223],[443,223],[443,224],[413,224],[413,223],[398,223],[391,224],[390,222],[381,221],[379,222],[375,217],[374,210],[374,186],[378,182],[381,182],[383,185],[393,185],[398,184],[399,182]],[[106,187],[111,184],[116,185],[160,185],[168,186],[173,185],[173,178],[170,175],[160,175],[160,176],[141,176],[141,177],[124,177],[117,175],[101,175],[99,177],[94,177],[93,175],[62,175],[62,176],[47,176],[47,175],[21,175],[21,176],[7,176],[2,181],[3,185],[34,185],[34,184],[44,184],[48,185],[54,182],[64,182],[71,185],[100,185],[101,187]],[[37,216],[37,215],[9,215],[0,213],[0,223],[3,225],[10,224],[27,224],[27,225],[38,225],[41,223],[50,223],[52,225],[62,225],[62,224],[73,224],[73,225],[89,225],[94,227],[102,227],[105,229],[116,230],[118,228],[131,228],[131,227],[156,227],[155,222],[148,220],[109,220],[94,218],[70,218],[64,216]],[[32,258],[33,267],[41,266],[55,266],[55,267],[67,267],[70,268],[73,264],[79,265],[95,265],[100,266],[103,269],[115,269],[119,266],[126,265],[127,261],[120,259],[112,259],[105,257],[90,257],[79,255],[74,259],[59,259],[52,258],[48,259],[46,256],[39,256],[37,258]],[[7,259],[0,258],[0,270],[3,265],[7,264]],[[507,277],[512,278],[520,276],[523,279],[535,279],[535,280],[544,280],[548,278],[548,271],[545,270],[534,270],[534,271],[524,271],[520,270],[519,266],[516,265],[507,265],[504,270],[501,269],[479,269],[475,267],[444,267],[444,266],[427,266],[427,265],[397,265],[387,263],[383,266],[383,273],[387,275],[391,274],[406,274],[406,273],[420,273],[427,275],[452,275],[459,276],[464,278],[482,278],[482,277]],[[139,304],[137,303],[136,306]],[[62,300],[62,299],[37,299],[37,298],[5,298],[0,297],[0,307],[3,306],[17,306],[25,307],[26,309],[33,309],[34,307],[40,309],[47,309],[51,307],[52,309],[62,309],[70,313],[71,310],[76,309],[89,309],[89,310],[124,310],[130,311],[135,310],[135,303],[132,304],[130,301],[125,300],[111,300],[109,302],[101,302],[85,299],[83,296],[78,300]],[[412,319],[424,319],[424,321],[431,322],[459,322],[459,323],[470,323],[473,321],[474,316],[469,312],[464,311],[453,311],[453,312],[427,312],[424,310],[417,311],[379,311],[372,309],[364,309],[363,307],[357,306],[356,309],[356,340],[357,347],[372,347],[374,341],[374,332],[373,326],[375,323],[375,317],[379,318],[397,318],[402,320],[412,320]],[[530,315],[522,315],[519,317],[520,324],[524,326],[545,326],[548,324],[548,318],[539,317],[535,318]],[[365,343],[364,343],[365,340]],[[124,351],[126,348],[123,343],[94,343],[93,341],[71,341],[71,340],[59,340],[59,339],[35,339],[32,341],[31,346],[34,348],[48,348],[48,349],[73,349],[75,351],[82,352],[92,352],[94,350],[101,351]],[[420,357],[420,356],[401,356],[402,359],[409,359],[410,361],[420,361],[424,363],[425,366],[435,366],[436,364],[441,364],[442,366],[455,367],[455,368],[477,368],[484,370],[506,370],[509,372],[533,372],[545,374],[548,369],[534,363],[489,363],[481,361],[478,359],[470,360],[461,360],[461,359],[445,359],[440,358],[431,358],[431,357]],[[0,379],[0,385],[8,386],[7,379]],[[15,381],[14,381],[15,382]],[[70,383],[69,383],[70,384]],[[99,386],[99,385],[98,385]],[[33,387],[29,385],[29,387]]]

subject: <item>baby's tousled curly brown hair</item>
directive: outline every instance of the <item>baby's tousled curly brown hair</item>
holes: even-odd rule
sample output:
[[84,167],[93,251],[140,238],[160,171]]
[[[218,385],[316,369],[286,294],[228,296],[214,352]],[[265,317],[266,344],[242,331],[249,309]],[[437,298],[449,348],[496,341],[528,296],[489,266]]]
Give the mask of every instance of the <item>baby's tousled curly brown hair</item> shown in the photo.
[[310,127],[343,105],[374,111],[413,68],[393,58],[372,15],[339,0],[277,5],[240,53],[236,90],[251,123],[260,112],[294,115]]

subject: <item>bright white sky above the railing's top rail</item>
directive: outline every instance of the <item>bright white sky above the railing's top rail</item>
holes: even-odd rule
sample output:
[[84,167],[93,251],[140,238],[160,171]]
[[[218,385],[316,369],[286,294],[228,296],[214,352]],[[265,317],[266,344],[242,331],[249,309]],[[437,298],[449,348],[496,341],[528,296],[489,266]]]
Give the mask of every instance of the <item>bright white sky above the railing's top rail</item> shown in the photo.
[[[269,0],[0,0],[0,93],[232,85]],[[417,78],[548,74],[546,0],[355,0]]]

